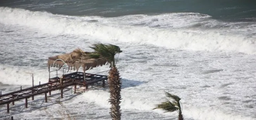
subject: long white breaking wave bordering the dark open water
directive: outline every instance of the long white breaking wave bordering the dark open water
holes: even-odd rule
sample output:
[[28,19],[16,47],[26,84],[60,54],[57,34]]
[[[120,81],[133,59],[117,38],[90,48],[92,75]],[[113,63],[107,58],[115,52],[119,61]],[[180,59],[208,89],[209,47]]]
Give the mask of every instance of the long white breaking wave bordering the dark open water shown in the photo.
[[[191,17],[192,16],[192,17]],[[140,19],[142,17],[142,20]],[[171,19],[175,17],[175,19]],[[4,24],[18,24],[39,29],[47,34],[80,34],[93,39],[103,39],[115,42],[146,43],[163,46],[170,49],[181,50],[209,50],[209,51],[237,51],[243,53],[256,53],[254,38],[248,38],[246,32],[240,34],[223,34],[218,29],[166,29],[154,28],[156,24],[161,26],[184,27],[208,19],[209,15],[195,13],[175,13],[163,15],[133,15],[116,18],[102,17],[76,17],[54,15],[47,12],[31,12],[24,9],[12,9],[0,7],[0,22]],[[179,19],[182,19],[180,22]],[[157,23],[146,21],[147,19],[163,19]],[[166,19],[166,20],[165,20]],[[192,19],[188,21],[188,19]],[[90,22],[96,20],[99,22]],[[127,21],[131,21],[128,24]],[[171,20],[175,23],[168,24]],[[117,22],[121,21],[121,22]],[[175,22],[176,21],[176,22]],[[184,22],[188,21],[188,22]],[[133,26],[144,22],[148,26]],[[252,29],[252,28],[247,28]],[[227,31],[227,30],[225,30]],[[228,30],[228,31],[234,31]],[[246,31],[246,28],[243,28]]]

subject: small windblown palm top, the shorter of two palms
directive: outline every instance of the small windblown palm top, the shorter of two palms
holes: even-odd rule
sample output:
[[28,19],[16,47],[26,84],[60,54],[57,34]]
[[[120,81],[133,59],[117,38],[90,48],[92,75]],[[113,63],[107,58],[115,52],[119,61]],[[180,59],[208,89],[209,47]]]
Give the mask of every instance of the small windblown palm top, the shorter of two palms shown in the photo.
[[182,107],[180,106],[181,105],[180,98],[174,94],[170,94],[167,92],[165,92],[165,94],[168,98],[171,98],[171,101],[166,99],[166,101],[162,102],[161,104],[157,104],[156,108],[154,109],[165,110],[164,113],[177,111],[177,113],[179,114],[178,120],[184,120],[182,115]]

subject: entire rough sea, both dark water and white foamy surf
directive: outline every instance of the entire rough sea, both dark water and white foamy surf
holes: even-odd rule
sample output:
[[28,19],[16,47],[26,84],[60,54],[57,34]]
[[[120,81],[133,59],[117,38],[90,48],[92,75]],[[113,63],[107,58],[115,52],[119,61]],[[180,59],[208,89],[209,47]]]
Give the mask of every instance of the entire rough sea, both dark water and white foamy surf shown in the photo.
[[[48,81],[47,58],[95,42],[121,47],[122,120],[176,120],[152,110],[164,91],[186,120],[256,120],[253,0],[1,0],[0,91]],[[97,73],[108,65],[88,70]],[[107,72],[102,73],[107,74]],[[19,120],[109,120],[107,88],[58,91],[0,106]],[[61,102],[60,102],[61,101]]]

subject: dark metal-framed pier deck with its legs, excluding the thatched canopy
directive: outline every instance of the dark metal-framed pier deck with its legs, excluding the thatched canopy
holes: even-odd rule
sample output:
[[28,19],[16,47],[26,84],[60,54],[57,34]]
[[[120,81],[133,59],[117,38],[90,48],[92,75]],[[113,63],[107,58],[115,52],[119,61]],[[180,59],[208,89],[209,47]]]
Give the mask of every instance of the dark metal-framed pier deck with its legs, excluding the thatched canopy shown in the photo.
[[25,107],[28,108],[28,98],[32,98],[32,100],[34,100],[34,96],[44,94],[45,102],[47,102],[47,93],[51,95],[51,91],[61,90],[61,98],[63,98],[63,89],[65,87],[74,86],[74,93],[76,93],[76,86],[83,86],[85,87],[84,90],[86,90],[100,85],[104,87],[106,81],[107,75],[73,72],[69,74],[64,74],[61,76],[61,78],[58,76],[50,78],[49,72],[49,82],[47,83],[37,86],[33,85],[32,87],[28,87],[25,89],[21,88],[18,91],[6,94],[0,94],[0,105],[6,104],[7,113],[9,113],[9,104],[12,103],[12,105],[14,105],[15,101],[19,101],[21,99],[25,99]]

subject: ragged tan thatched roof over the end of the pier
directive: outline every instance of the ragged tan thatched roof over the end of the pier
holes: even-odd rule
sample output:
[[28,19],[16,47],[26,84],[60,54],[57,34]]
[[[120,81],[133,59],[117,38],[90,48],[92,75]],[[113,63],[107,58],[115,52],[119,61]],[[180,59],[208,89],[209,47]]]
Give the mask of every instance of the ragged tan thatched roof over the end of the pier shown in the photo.
[[[57,67],[61,69],[64,63],[63,60],[69,69],[78,70],[80,67],[83,67],[83,70],[93,69],[94,67],[102,66],[108,63],[108,61],[101,57],[99,54],[95,52],[84,52],[81,49],[76,49],[71,53],[65,53],[62,55],[57,55],[54,57],[48,58],[48,69],[50,67]],[[57,60],[57,61],[55,61]],[[55,62],[54,62],[55,61]]]

